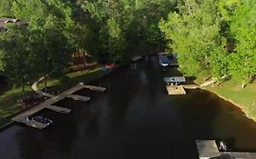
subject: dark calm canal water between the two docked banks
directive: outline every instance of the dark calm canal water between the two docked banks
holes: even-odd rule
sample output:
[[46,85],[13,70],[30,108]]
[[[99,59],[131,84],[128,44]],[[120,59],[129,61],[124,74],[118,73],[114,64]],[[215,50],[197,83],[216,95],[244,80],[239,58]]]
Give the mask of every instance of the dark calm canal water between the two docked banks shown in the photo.
[[256,123],[215,94],[168,95],[154,57],[118,68],[81,90],[89,103],[65,99],[72,114],[43,111],[55,124],[40,131],[15,124],[0,132],[1,159],[198,158],[195,139],[230,139],[237,150],[256,149]]

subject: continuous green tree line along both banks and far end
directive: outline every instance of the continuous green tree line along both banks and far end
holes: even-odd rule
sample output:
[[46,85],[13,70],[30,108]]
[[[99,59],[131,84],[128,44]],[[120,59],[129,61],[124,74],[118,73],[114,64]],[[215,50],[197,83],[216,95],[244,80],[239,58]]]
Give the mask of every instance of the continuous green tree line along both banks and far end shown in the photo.
[[0,17],[0,70],[24,85],[61,73],[71,54],[86,51],[98,62],[122,62],[167,47],[185,75],[238,77],[256,73],[256,3],[253,0],[5,0]]

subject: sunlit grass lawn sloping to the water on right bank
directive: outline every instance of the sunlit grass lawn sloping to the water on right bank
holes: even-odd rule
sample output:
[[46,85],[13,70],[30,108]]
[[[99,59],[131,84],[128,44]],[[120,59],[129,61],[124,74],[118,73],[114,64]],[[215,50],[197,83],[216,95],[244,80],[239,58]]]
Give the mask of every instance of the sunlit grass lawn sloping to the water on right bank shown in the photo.
[[[199,78],[198,81],[201,79]],[[219,86],[216,84],[209,85],[206,89],[240,106],[249,118],[256,121],[256,83],[248,84],[242,89],[241,80],[230,79]]]

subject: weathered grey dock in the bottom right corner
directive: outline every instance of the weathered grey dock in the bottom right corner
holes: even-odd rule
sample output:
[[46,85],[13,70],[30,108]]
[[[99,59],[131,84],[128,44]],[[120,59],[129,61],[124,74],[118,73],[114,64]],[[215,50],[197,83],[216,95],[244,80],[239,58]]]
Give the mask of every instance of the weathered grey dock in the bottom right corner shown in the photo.
[[256,153],[220,152],[215,140],[196,140],[200,159],[255,159]]

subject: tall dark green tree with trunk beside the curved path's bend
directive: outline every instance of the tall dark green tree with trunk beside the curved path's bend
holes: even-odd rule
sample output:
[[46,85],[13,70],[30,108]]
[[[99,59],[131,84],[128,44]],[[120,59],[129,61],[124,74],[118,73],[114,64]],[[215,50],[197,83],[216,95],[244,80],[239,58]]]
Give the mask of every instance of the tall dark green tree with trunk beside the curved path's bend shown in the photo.
[[[26,8],[26,9],[25,9]],[[16,17],[29,22],[30,43],[36,53],[37,73],[62,72],[71,54],[72,10],[61,0],[17,0],[13,5]],[[73,40],[74,41],[74,40]],[[46,80],[45,80],[46,86]]]

